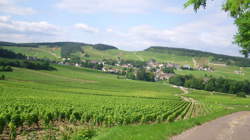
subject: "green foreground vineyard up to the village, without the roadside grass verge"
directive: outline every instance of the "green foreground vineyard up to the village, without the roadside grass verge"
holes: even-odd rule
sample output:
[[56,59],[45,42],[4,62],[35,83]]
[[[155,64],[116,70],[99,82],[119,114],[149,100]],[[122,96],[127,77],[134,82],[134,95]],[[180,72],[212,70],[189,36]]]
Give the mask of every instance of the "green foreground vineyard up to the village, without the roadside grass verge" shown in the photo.
[[1,139],[90,139],[108,128],[165,124],[223,109],[166,83],[55,67],[0,73],[6,75],[0,81]]

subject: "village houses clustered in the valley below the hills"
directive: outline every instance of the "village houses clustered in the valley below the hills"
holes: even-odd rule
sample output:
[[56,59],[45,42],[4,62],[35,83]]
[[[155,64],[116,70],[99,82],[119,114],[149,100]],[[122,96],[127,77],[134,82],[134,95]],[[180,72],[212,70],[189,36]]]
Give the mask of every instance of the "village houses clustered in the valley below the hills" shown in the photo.
[[[84,63],[92,64],[92,65],[102,65],[102,68],[99,69],[103,72],[112,73],[112,74],[120,74],[120,75],[126,75],[128,71],[133,71],[136,75],[136,71],[138,70],[138,67],[135,67],[131,63],[127,64],[121,64],[120,61],[115,61],[114,64],[109,65],[104,60],[103,61],[96,61],[96,60],[81,60],[80,62],[72,62],[70,58],[63,59],[62,62],[59,62],[58,64],[63,65],[74,65],[76,67],[86,67]],[[213,71],[213,69],[209,66],[198,66],[198,68],[193,68],[190,65],[179,65],[175,63],[160,63],[156,62],[155,60],[148,61],[145,65],[141,66],[145,69],[145,71],[153,72],[155,76],[155,81],[160,80],[167,80],[170,77],[174,76],[174,72],[166,72],[164,71],[165,68],[175,69],[175,70],[200,70],[200,71]],[[91,67],[92,68],[92,67]]]

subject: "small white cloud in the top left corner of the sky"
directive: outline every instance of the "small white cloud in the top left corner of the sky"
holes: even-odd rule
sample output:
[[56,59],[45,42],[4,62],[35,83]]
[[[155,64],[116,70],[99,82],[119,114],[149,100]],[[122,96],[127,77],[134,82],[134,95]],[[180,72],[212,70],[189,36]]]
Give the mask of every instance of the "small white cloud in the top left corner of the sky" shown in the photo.
[[14,15],[30,15],[35,13],[32,8],[17,5],[17,0],[0,0],[0,12]]

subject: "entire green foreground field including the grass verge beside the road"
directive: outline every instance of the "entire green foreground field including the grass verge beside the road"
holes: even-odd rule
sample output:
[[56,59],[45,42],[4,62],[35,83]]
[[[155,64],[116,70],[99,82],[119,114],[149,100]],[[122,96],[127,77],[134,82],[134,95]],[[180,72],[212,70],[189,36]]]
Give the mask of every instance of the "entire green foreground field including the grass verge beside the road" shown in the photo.
[[[60,128],[74,124],[95,129],[94,139],[161,140],[250,104],[249,98],[196,90],[182,95],[180,89],[164,82],[124,80],[86,68],[54,67],[56,71],[14,68],[14,72],[0,72],[6,76],[0,81],[0,121],[10,115],[12,122],[19,116],[22,128],[26,128],[27,117],[39,120],[39,131],[21,131],[16,124],[17,138],[27,138],[31,132],[41,138],[53,130],[55,138],[62,139],[67,131]],[[183,96],[196,102],[183,100]],[[10,128],[7,124],[4,128],[2,137],[6,138]],[[75,131],[79,130],[72,135]]]

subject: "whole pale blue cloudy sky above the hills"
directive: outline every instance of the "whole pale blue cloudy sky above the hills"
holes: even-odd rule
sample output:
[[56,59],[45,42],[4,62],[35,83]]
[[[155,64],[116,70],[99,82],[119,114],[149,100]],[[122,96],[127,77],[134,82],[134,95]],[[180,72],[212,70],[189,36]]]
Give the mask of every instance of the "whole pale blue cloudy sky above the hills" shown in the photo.
[[185,0],[0,0],[0,40],[103,43],[137,51],[166,46],[240,56],[237,28],[209,1],[197,13]]

